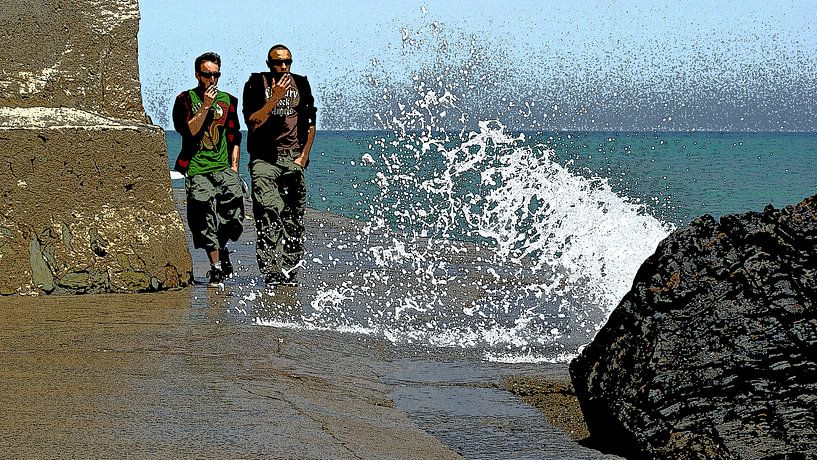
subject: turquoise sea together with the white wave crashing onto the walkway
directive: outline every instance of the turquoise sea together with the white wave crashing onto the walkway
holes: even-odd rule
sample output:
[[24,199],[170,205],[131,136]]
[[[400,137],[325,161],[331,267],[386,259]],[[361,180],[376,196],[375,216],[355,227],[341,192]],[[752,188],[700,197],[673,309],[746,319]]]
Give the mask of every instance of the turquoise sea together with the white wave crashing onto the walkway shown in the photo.
[[308,206],[354,225],[304,257],[322,275],[297,315],[254,321],[566,362],[670,232],[814,195],[815,158],[815,133],[318,131]]

